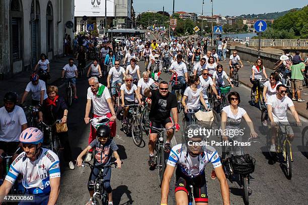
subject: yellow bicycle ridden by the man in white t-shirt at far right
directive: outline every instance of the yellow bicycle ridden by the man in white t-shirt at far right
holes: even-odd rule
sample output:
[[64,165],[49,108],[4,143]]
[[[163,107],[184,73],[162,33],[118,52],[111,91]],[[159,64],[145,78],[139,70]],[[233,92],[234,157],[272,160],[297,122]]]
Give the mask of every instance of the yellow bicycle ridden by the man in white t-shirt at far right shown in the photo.
[[[277,131],[277,154],[282,153],[283,160],[285,161],[286,166],[286,177],[287,179],[292,178],[292,145],[291,141],[288,139],[288,127],[295,126],[296,123],[292,124],[285,124],[285,123],[276,123],[279,126],[279,129]],[[282,131],[281,127],[284,127],[284,132]],[[277,157],[277,155],[273,154],[272,152],[269,152],[272,158]]]

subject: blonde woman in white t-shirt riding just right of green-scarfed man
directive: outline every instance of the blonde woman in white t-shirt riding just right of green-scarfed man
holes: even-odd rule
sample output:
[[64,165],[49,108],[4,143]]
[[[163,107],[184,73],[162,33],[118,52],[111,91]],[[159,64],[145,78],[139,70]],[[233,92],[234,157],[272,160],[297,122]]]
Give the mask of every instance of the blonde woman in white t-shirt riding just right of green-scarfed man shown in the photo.
[[124,77],[125,83],[121,85],[120,90],[121,90],[121,100],[122,100],[122,108],[124,108],[124,119],[123,123],[127,122],[127,113],[129,111],[129,107],[125,107],[128,105],[134,105],[135,104],[135,96],[139,102],[139,105],[141,105],[141,99],[140,95],[137,90],[137,85],[133,84],[133,77],[131,75],[126,75]]

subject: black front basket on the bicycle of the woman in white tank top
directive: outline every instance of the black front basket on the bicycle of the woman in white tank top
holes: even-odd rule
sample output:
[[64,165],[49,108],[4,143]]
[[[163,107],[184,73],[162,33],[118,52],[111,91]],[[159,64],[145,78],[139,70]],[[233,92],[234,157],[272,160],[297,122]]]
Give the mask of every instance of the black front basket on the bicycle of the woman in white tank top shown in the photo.
[[230,163],[235,174],[251,174],[255,171],[256,159],[245,154],[230,157]]

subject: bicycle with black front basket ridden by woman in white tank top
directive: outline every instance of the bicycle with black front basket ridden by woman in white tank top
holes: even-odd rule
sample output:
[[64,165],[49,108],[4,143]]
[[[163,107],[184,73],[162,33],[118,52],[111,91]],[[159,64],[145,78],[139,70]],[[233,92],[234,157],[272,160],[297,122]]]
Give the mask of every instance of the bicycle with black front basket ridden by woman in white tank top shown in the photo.
[[[251,139],[256,138],[249,138],[247,143],[260,143],[259,141],[250,141]],[[229,138],[228,140],[230,140],[232,144],[235,144],[235,141],[232,138]],[[221,159],[222,168],[226,178],[228,178],[231,182],[234,181],[233,179],[235,175],[239,175],[239,185],[241,186],[243,201],[245,205],[248,205],[249,195],[252,194],[250,187],[250,174],[255,170],[256,160],[249,154],[244,155],[242,146],[235,145],[235,147],[235,149],[240,149],[241,155],[234,155],[234,151],[236,150],[233,150],[233,146],[229,146],[224,157]],[[239,158],[241,158],[241,160],[237,160]],[[245,160],[243,160],[243,158]],[[241,161],[241,163],[239,163],[239,161]],[[243,163],[243,161],[246,163]]]

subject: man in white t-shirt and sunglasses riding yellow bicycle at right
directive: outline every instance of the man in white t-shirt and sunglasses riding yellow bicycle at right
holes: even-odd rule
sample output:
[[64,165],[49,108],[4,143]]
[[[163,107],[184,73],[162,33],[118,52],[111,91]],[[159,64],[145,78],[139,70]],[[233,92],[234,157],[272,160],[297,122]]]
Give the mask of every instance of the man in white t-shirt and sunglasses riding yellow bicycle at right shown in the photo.
[[[270,152],[276,152],[276,141],[277,141],[277,123],[289,125],[287,118],[288,108],[290,109],[296,124],[301,126],[299,121],[299,117],[295,110],[294,104],[292,100],[286,95],[287,87],[280,84],[277,86],[277,94],[271,95],[266,102],[268,118],[271,121],[271,125],[274,126],[272,129],[272,145],[270,147]],[[287,132],[290,141],[294,138],[294,133],[291,126],[287,126],[287,130],[285,130],[285,126],[281,126],[280,129],[282,132]]]

